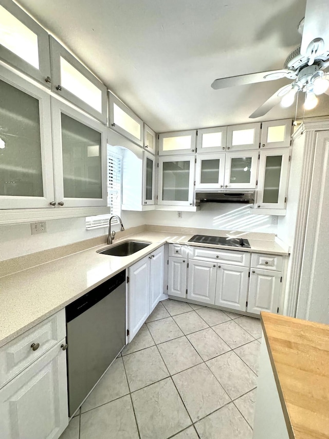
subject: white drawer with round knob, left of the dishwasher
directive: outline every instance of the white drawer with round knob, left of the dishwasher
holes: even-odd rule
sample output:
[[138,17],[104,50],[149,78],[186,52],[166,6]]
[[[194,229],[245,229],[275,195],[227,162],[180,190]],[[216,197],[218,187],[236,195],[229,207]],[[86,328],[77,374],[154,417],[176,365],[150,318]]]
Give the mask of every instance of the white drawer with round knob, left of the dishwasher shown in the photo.
[[[0,387],[66,336],[65,309],[0,348]],[[39,343],[33,351],[31,344]]]

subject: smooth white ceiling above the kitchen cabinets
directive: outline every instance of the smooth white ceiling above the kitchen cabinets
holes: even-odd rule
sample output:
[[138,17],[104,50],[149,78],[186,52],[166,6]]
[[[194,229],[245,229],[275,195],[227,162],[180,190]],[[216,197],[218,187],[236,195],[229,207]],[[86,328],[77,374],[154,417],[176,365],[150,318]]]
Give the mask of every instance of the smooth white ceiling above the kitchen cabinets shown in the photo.
[[[156,132],[251,122],[286,80],[213,90],[283,67],[306,0],[19,0]],[[302,117],[300,106],[298,116]],[[329,98],[306,116],[329,114]],[[265,117],[294,117],[273,108]]]

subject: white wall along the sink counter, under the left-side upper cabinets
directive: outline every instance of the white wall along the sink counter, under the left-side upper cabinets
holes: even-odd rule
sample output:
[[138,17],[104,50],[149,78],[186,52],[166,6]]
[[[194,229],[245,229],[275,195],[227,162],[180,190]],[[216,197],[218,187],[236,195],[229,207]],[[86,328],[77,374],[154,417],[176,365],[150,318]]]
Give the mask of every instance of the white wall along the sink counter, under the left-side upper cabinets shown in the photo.
[[[142,212],[122,211],[121,218],[125,229],[145,223]],[[107,233],[107,227],[86,230],[84,217],[53,219],[46,223],[47,233],[38,235],[31,235],[30,224],[0,226],[0,261]]]

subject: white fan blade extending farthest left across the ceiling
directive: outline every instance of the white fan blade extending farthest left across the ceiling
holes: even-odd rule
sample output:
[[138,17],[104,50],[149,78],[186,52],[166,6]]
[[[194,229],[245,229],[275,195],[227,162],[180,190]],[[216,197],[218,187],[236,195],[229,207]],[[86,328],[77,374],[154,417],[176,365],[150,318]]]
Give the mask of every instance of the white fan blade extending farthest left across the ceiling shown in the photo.
[[230,76],[228,78],[215,79],[211,84],[214,90],[218,88],[236,87],[237,85],[254,84],[263,81],[273,81],[275,79],[281,79],[290,77],[290,72],[287,69],[261,71],[259,73],[250,73],[248,75]]

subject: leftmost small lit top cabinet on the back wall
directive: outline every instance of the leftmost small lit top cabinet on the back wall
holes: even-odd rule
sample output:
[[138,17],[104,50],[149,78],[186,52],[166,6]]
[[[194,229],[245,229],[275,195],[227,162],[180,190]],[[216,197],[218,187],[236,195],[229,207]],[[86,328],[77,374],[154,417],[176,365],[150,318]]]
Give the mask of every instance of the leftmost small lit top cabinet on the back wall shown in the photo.
[[196,130],[159,134],[159,155],[191,154],[196,148]]

